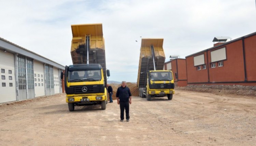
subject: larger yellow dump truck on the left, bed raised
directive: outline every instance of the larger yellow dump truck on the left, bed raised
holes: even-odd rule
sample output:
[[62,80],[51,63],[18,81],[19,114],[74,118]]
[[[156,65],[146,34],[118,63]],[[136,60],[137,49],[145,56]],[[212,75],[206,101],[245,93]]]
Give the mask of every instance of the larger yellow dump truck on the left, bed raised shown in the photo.
[[102,24],[71,25],[71,57],[73,65],[65,67],[66,102],[69,111],[75,106],[101,104],[106,109],[108,94],[105,45]]

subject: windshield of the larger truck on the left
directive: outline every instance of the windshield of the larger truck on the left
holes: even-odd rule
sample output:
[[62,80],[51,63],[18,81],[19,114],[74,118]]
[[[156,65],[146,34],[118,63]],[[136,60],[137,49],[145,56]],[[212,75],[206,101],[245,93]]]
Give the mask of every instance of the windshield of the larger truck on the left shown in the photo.
[[91,82],[101,80],[101,70],[72,70],[68,71],[68,82]]

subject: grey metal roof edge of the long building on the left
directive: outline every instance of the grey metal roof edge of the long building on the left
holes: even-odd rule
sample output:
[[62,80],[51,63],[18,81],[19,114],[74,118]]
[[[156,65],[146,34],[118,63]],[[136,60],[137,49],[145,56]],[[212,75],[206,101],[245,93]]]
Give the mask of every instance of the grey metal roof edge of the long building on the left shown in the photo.
[[20,47],[17,44],[14,44],[14,43],[12,43],[8,40],[5,40],[1,37],[0,37],[0,49],[3,49],[4,51],[7,51],[7,52],[11,52],[13,54],[15,54],[15,53],[21,54],[21,55],[27,56],[29,58],[33,58],[33,59],[35,59],[39,62],[46,63],[46,64],[52,65],[56,68],[60,68],[62,70],[65,70],[65,67],[62,66],[61,64],[56,63],[56,62],[54,62],[54,61],[52,61],[48,58],[45,58],[44,56],[36,54],[35,52],[27,50],[23,47]]

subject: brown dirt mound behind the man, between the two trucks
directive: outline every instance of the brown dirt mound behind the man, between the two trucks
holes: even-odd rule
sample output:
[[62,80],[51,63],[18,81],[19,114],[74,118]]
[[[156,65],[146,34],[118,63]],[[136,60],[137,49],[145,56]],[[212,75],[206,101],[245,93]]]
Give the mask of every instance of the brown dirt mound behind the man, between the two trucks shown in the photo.
[[[113,83],[113,84],[109,84],[109,85],[112,86],[112,88],[113,88],[112,99],[116,100],[116,91],[117,91],[117,88],[121,86],[121,84]],[[136,83],[127,82],[126,86],[130,88],[132,96],[139,96],[139,91],[138,91]],[[108,101],[109,101],[109,99],[108,99]]]

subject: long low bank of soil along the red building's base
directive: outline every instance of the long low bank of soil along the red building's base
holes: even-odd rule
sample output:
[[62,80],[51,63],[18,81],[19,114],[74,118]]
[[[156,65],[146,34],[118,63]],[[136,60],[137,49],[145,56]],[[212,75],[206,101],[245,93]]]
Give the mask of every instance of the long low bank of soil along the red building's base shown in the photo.
[[249,95],[256,96],[256,86],[224,86],[224,85],[189,85],[185,87],[175,87],[178,90],[210,92],[215,94],[235,94],[235,95]]

